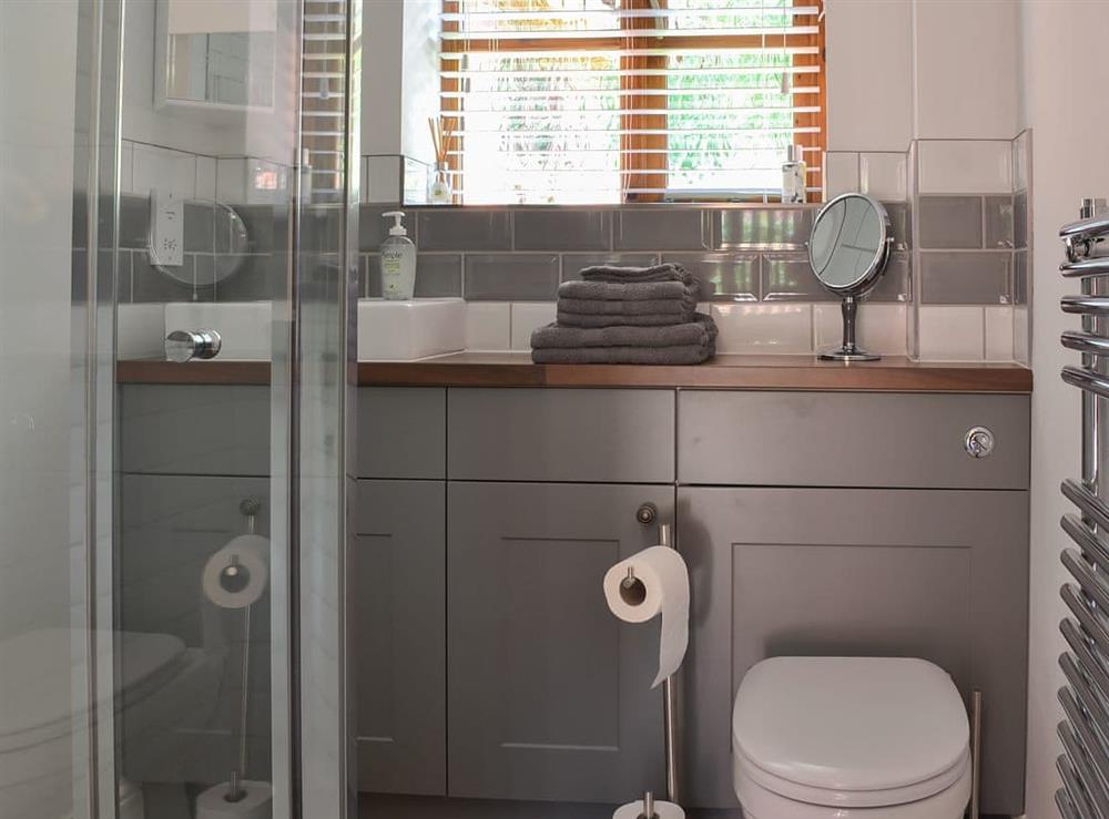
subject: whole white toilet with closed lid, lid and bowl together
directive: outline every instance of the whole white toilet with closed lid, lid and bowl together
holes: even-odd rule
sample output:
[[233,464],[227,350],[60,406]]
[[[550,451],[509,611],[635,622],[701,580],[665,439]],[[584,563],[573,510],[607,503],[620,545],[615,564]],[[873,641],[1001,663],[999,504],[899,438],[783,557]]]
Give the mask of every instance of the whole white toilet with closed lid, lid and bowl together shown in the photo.
[[765,659],[735,696],[735,792],[744,819],[962,819],[969,735],[926,661]]

